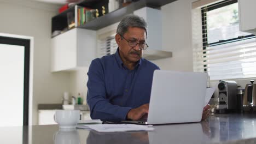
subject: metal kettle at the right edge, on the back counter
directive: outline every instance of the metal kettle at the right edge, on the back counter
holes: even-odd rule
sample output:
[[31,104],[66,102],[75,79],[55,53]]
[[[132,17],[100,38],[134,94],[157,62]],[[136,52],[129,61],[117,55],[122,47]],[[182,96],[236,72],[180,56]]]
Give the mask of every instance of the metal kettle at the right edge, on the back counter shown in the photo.
[[245,94],[243,97],[243,106],[256,106],[256,84],[254,80],[250,81],[245,87]]

